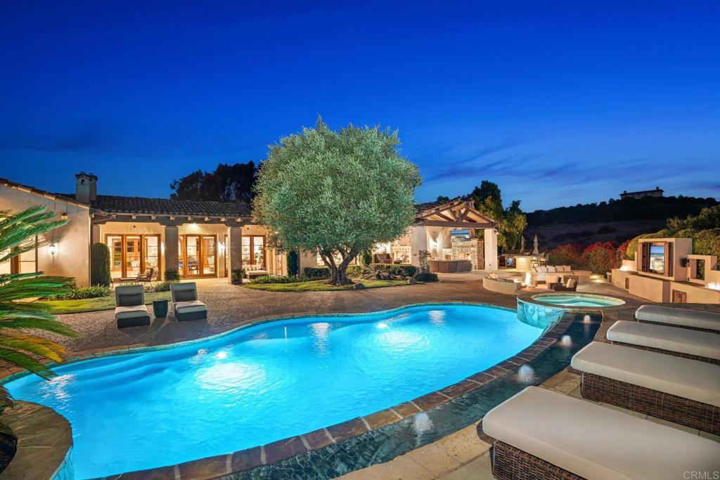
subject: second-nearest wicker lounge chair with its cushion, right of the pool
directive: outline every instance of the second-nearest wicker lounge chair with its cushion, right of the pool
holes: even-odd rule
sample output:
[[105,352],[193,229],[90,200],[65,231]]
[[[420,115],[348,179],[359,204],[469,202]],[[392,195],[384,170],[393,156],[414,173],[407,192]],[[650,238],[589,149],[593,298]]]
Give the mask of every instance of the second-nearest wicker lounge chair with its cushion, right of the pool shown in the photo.
[[582,398],[720,435],[720,366],[593,342],[575,353]]

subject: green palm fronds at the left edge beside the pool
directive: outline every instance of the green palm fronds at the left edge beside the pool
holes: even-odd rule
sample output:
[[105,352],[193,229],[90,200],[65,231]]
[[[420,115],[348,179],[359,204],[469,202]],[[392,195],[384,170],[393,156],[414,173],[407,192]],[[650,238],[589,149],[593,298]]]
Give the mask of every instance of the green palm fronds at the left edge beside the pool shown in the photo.
[[[48,240],[36,240],[54,228],[66,224],[58,220],[54,212],[47,212],[38,205],[22,212],[0,212],[0,262],[48,244]],[[43,330],[68,337],[76,333],[55,316],[48,313],[42,302],[30,302],[42,296],[55,296],[71,291],[74,279],[45,276],[42,272],[4,273],[0,275],[0,359],[24,368],[45,379],[53,376],[50,368],[37,357],[63,361],[66,353],[62,345],[31,333]],[[9,399],[0,387],[0,403]]]

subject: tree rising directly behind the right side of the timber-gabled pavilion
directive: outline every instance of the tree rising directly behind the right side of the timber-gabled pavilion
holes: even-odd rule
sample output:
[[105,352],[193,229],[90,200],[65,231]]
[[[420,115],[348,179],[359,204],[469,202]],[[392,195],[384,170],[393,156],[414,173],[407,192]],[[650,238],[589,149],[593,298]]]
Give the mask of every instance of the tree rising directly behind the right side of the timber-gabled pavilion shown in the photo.
[[520,247],[520,239],[528,225],[520,200],[513,200],[510,207],[503,209],[500,187],[492,181],[483,180],[470,194],[475,208],[498,222],[498,246],[507,250]]

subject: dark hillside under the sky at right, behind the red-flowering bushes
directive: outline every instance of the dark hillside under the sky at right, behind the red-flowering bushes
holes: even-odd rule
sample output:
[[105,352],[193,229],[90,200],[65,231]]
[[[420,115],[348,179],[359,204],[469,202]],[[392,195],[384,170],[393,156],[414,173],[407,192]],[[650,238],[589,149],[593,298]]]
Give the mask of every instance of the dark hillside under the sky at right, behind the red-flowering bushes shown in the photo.
[[719,203],[713,198],[667,196],[536,210],[527,214],[526,245],[532,245],[534,235],[538,235],[541,250],[565,243],[583,246],[599,241],[621,243],[642,233],[661,230],[671,217],[696,215],[703,207]]

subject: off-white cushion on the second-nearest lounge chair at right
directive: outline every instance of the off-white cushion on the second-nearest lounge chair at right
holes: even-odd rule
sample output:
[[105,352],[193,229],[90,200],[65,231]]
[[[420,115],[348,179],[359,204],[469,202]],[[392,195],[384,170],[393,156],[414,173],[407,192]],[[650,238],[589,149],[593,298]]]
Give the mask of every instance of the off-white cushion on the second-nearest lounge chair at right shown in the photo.
[[575,353],[570,365],[608,379],[720,407],[720,365],[602,342],[585,345]]

